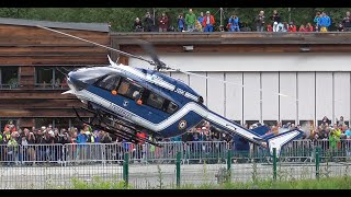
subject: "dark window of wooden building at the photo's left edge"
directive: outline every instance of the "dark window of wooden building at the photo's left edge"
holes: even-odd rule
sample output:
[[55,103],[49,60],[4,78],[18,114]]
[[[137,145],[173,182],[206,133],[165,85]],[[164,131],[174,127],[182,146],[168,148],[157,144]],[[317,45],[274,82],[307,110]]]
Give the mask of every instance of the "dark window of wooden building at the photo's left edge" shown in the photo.
[[19,67],[0,68],[0,88],[18,89],[19,88]]

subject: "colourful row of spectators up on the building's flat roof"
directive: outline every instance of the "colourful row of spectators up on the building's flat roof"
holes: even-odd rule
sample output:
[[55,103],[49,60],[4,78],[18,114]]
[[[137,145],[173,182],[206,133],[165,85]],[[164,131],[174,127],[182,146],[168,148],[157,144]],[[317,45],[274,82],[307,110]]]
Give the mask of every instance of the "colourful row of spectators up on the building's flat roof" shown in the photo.
[[[205,13],[205,14],[204,14]],[[350,12],[346,13],[346,16],[337,25],[338,32],[350,32],[351,21]],[[184,15],[179,13],[177,18],[177,26],[172,26],[170,18],[167,13],[161,13],[159,18],[154,18],[149,12],[145,18],[140,20],[136,18],[134,22],[134,28],[136,32],[251,32],[248,26],[244,26],[240,18],[236,14],[229,16],[228,20],[215,26],[215,15],[210,11],[200,12],[196,15],[192,9]],[[310,19],[310,23],[295,24],[294,21],[283,21],[280,13],[274,10],[269,16],[264,14],[264,11],[260,11],[258,15],[252,19],[256,23],[257,32],[328,32],[332,25],[332,20],[326,12],[317,12],[314,19]]]

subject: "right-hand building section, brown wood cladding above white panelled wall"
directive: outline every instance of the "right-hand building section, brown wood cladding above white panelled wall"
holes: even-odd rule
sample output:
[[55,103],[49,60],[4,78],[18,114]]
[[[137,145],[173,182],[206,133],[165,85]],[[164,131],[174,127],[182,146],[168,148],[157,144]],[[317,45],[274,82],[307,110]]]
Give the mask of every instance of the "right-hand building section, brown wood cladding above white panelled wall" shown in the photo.
[[[135,38],[156,46],[171,72],[203,95],[214,112],[237,123],[303,125],[343,116],[350,121],[349,33],[111,33],[122,50],[145,55]],[[116,47],[116,46],[115,46]],[[137,59],[131,66],[147,67]],[[231,83],[223,83],[217,80]]]

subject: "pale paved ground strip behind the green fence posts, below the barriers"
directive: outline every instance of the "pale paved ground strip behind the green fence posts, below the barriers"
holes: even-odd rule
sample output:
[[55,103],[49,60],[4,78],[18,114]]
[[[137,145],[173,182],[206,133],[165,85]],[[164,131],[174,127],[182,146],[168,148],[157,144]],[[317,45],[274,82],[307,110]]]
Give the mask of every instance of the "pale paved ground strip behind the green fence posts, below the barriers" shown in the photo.
[[[350,163],[348,163],[350,164]],[[329,163],[320,165],[320,174],[329,176],[351,175],[348,164]],[[226,164],[183,164],[181,184],[217,184],[216,174]],[[315,164],[282,164],[278,166],[278,178],[314,178]],[[78,166],[2,166],[0,188],[50,188],[70,186],[73,177],[91,182],[93,176],[103,179],[121,181],[123,166],[118,164],[94,164]],[[272,178],[273,166],[269,164],[231,164],[234,181],[248,182],[252,178]],[[159,188],[176,185],[176,164],[131,164],[129,183],[137,188]]]

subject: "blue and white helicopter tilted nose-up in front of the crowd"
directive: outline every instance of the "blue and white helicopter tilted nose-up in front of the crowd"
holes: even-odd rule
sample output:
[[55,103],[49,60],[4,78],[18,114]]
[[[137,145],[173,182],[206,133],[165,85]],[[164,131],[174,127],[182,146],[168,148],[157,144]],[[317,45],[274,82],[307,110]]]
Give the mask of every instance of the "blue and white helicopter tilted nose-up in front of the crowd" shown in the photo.
[[[167,66],[145,40],[138,42],[150,54],[152,60],[57,30],[41,25],[37,27],[104,47],[154,66],[154,70],[135,68],[116,63],[107,56],[110,66],[83,67],[65,73],[69,90],[63,94],[72,94],[84,104],[81,108],[93,114],[90,121],[83,120],[75,107],[73,111],[82,123],[95,129],[114,134],[133,143],[145,141],[161,147],[157,139],[181,136],[206,120],[227,135],[268,148],[270,154],[273,154],[275,148],[276,155],[283,146],[303,136],[303,131],[297,128],[278,135],[265,134],[270,130],[267,126],[247,129],[212,112],[204,105],[204,99],[196,91],[184,82],[163,74],[161,70],[203,76]],[[151,138],[141,138],[138,135],[141,131]]]

